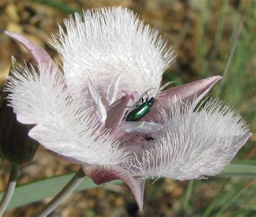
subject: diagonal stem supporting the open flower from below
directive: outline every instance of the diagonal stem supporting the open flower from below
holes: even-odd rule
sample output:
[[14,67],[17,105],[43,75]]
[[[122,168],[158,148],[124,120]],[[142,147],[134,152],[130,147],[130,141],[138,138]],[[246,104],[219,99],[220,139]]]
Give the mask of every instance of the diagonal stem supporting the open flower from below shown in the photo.
[[48,216],[60,203],[70,194],[75,188],[83,181],[85,178],[85,173],[82,167],[77,171],[73,178],[62,188],[62,190],[46,205],[43,211],[38,215],[38,217]]

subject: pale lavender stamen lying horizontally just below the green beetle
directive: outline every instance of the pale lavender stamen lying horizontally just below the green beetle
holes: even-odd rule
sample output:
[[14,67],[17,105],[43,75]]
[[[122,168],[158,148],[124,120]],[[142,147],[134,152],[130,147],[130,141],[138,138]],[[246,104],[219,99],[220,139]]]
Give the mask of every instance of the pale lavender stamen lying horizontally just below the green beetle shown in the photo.
[[163,128],[163,124],[157,124],[154,122],[147,122],[147,121],[123,121],[122,124],[118,127],[118,130],[124,131],[126,133],[134,133],[134,132],[140,132],[140,133],[153,133],[156,131],[161,130]]

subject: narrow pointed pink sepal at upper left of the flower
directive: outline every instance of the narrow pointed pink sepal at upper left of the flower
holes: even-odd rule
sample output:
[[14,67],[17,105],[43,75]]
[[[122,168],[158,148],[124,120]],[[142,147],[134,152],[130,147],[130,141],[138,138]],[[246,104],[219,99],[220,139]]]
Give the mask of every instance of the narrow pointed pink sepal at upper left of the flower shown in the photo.
[[21,43],[25,47],[25,49],[29,51],[32,59],[35,60],[37,65],[49,67],[49,65],[51,64],[52,69],[56,67],[56,64],[53,62],[48,53],[43,48],[31,42],[25,36],[19,35],[15,32],[5,31],[4,33]]

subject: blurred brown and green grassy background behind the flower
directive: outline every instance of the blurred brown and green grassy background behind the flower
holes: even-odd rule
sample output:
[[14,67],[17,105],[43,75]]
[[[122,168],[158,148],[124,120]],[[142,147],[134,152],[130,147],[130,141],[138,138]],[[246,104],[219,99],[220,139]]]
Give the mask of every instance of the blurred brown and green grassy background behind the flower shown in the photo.
[[[57,33],[57,23],[82,9],[122,5],[132,9],[146,24],[158,29],[177,54],[176,62],[164,73],[164,80],[180,85],[201,78],[223,75],[210,95],[234,106],[256,129],[256,1],[0,1],[0,86],[10,69],[11,55],[19,63],[29,60],[28,52],[4,30],[21,33],[42,46],[61,62],[48,43]],[[256,136],[250,138],[232,161],[255,166]],[[0,191],[8,181],[9,164],[2,160]],[[78,169],[39,147],[35,159],[21,167],[18,184],[52,177]],[[242,169],[243,167],[241,167]],[[246,167],[245,167],[246,168]],[[146,181],[144,209],[137,206],[129,188],[110,185],[74,193],[50,216],[255,216],[255,176],[236,174],[206,180]],[[26,195],[24,195],[25,197]],[[50,199],[10,209],[4,216],[32,216]]]

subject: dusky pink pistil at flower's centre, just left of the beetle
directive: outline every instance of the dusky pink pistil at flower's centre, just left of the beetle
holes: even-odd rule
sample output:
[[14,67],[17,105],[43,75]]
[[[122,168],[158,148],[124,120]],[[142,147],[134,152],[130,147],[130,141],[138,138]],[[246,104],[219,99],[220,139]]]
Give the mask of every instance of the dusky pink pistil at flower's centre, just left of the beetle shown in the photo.
[[134,99],[134,94],[134,92],[127,92],[123,98],[110,105],[105,122],[106,128],[115,130],[117,126],[122,122],[125,116],[125,112],[128,110],[126,106],[130,105],[131,101]]

